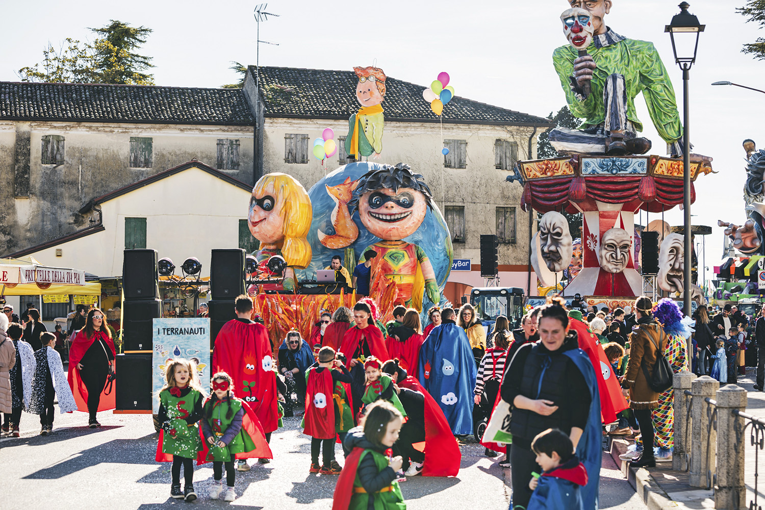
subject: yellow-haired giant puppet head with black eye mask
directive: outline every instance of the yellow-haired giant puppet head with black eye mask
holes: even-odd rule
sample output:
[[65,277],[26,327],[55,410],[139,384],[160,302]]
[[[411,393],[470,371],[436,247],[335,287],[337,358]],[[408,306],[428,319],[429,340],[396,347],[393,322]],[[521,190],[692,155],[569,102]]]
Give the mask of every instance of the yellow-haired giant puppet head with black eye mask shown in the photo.
[[311,245],[306,239],[311,219],[311,199],[295,177],[267,174],[252,188],[249,231],[261,247],[275,245],[281,249],[288,266],[302,269],[311,263]]

